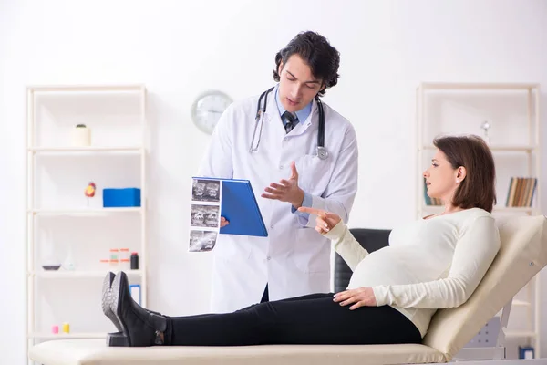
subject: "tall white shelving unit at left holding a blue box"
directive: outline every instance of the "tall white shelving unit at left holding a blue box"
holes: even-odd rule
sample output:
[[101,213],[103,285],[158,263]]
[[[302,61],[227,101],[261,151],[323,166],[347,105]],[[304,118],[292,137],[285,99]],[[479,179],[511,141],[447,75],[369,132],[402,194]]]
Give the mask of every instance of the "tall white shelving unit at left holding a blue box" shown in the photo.
[[[26,259],[21,263],[25,276],[22,285],[25,285],[26,290],[26,326],[23,330],[28,348],[46,340],[105,339],[109,332],[108,326],[97,326],[98,319],[105,318],[100,310],[71,314],[70,322],[79,325],[71,326],[70,333],[62,333],[60,330],[60,333],[51,333],[50,326],[43,326],[43,323],[46,320],[51,325],[57,323],[61,327],[61,319],[66,316],[67,308],[74,306],[70,301],[50,301],[50,298],[70,294],[74,285],[82,290],[90,290],[94,296],[98,295],[100,292],[95,290],[97,287],[100,290],[102,284],[99,283],[108,277],[108,272],[124,271],[131,282],[139,283],[140,302],[143,307],[147,306],[148,268],[145,257],[149,237],[146,230],[146,202],[150,163],[146,158],[150,152],[147,142],[150,141],[150,122],[147,114],[147,89],[138,81],[119,85],[31,85],[26,88],[26,141],[24,150],[20,152],[26,160],[25,191],[28,202],[24,205]],[[93,138],[95,142],[90,146],[72,146],[69,131],[74,127],[68,128],[67,125],[88,124],[93,120],[100,124],[98,137],[101,138]],[[120,136],[119,133],[124,135]],[[113,160],[120,162],[122,167],[109,163]],[[64,176],[67,171],[83,175],[86,179],[84,185],[80,180],[72,179],[72,176],[67,179]],[[105,208],[100,192],[96,193],[94,199],[86,198],[83,190],[74,199],[67,197],[67,191],[83,189],[82,186],[91,181],[87,180],[87,175],[92,179],[101,176],[114,181],[111,188],[122,188],[127,184],[139,187],[141,206]],[[48,202],[40,200],[43,191],[46,191]],[[120,224],[117,221],[121,221],[122,228],[129,224],[135,229],[130,232],[123,229],[119,231]],[[139,252],[142,258],[139,270],[129,269],[126,263],[110,266],[106,260],[99,260],[105,257],[106,249],[94,245],[82,246],[85,250],[74,253],[74,259],[81,263],[76,266],[76,270],[63,269],[67,266],[57,271],[44,270],[43,260],[39,256],[43,246],[49,244],[49,233],[42,235],[40,229],[43,225],[51,225],[46,228],[55,237],[82,235],[81,238],[88,239],[88,230],[78,229],[81,227],[74,226],[76,223],[99,225],[101,234],[105,230],[108,236],[115,232],[119,246],[132,247],[131,251]],[[91,229],[93,224],[90,225]],[[92,244],[92,241],[93,237],[89,242]],[[42,310],[44,306],[51,307],[51,311]],[[34,362],[27,359],[25,364]]]

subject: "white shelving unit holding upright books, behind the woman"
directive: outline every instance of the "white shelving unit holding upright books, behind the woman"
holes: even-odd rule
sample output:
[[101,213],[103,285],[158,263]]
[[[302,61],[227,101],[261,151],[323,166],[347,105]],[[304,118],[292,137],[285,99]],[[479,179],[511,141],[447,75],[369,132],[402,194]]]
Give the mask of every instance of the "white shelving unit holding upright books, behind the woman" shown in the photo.
[[[426,98],[431,93],[435,92],[444,92],[444,93],[456,93],[459,96],[464,95],[466,98],[473,99],[476,96],[487,93],[490,95],[490,98],[496,98],[495,95],[508,96],[508,95],[525,95],[526,97],[526,121],[528,124],[528,136],[527,141],[521,141],[517,144],[508,144],[501,143],[497,144],[495,142],[490,144],[490,150],[494,155],[494,159],[501,154],[510,154],[510,155],[524,155],[526,157],[526,173],[529,176],[536,177],[538,179],[538,184],[536,187],[534,199],[532,202],[532,207],[507,207],[505,205],[508,188],[502,186],[502,188],[497,188],[497,200],[498,204],[494,206],[492,214],[503,214],[507,216],[508,214],[529,214],[536,215],[542,214],[540,202],[541,202],[541,154],[540,154],[540,86],[539,84],[527,84],[527,83],[421,83],[419,84],[416,90],[416,119],[417,119],[417,129],[416,129],[416,146],[417,146],[417,171],[419,172],[418,177],[418,192],[416,194],[416,206],[417,206],[417,216],[421,217],[427,214],[434,214],[442,212],[444,207],[436,205],[426,205],[424,201],[424,185],[423,178],[421,177],[421,172],[426,170],[427,166],[425,162],[425,156],[427,153],[432,154],[435,150],[435,147],[431,144],[431,140],[424,138],[424,134],[427,132],[428,127],[431,126],[432,120],[429,120],[428,117],[428,108],[426,106]],[[459,99],[461,104],[464,104],[463,99]],[[473,110],[473,107],[469,107],[469,110],[466,112],[471,113],[477,111],[478,108]],[[465,120],[465,118],[462,118]],[[429,121],[429,123],[428,123]],[[439,120],[435,120],[439,123]],[[501,127],[496,125],[492,129]],[[480,125],[476,126],[474,130],[439,130],[439,134],[453,133],[457,134],[477,134],[481,135]],[[511,133],[511,132],[510,132]],[[498,166],[497,171],[500,170],[501,166]],[[523,308],[527,314],[527,329],[524,330],[510,330],[506,332],[506,337],[508,339],[524,339],[528,343],[526,345],[532,345],[535,350],[535,357],[541,357],[541,285],[540,285],[540,276],[535,276],[531,282],[527,285],[526,288],[522,290],[526,293],[526,300],[517,300],[513,299],[511,314],[515,313],[519,308]],[[516,308],[515,308],[516,307]]]

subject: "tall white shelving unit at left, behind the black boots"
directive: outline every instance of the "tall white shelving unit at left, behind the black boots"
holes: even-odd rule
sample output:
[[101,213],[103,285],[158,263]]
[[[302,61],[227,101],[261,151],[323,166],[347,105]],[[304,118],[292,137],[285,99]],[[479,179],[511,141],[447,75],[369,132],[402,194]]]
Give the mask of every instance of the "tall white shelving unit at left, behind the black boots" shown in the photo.
[[[86,331],[82,330],[83,326],[79,326],[78,330],[73,331],[72,328],[69,333],[62,333],[61,322],[62,319],[59,319],[59,322],[55,323],[59,327],[59,333],[53,334],[47,332],[48,328],[42,324],[40,326],[36,325],[37,318],[36,313],[41,309],[42,306],[51,306],[50,303],[46,304],[46,301],[42,297],[39,297],[36,294],[36,291],[40,285],[49,285],[53,286],[55,290],[62,290],[67,286],[67,283],[77,283],[77,286],[88,287],[89,293],[94,297],[93,300],[97,300],[96,306],[100,307],[100,287],[102,285],[102,279],[106,276],[108,271],[119,271],[121,267],[115,266],[99,266],[98,262],[91,265],[88,265],[85,268],[75,270],[62,270],[58,271],[46,271],[41,267],[39,260],[37,259],[37,252],[40,249],[40,246],[43,245],[43,242],[40,242],[40,239],[37,237],[36,230],[40,224],[40,220],[46,219],[49,222],[57,222],[58,219],[73,219],[78,220],[79,224],[85,222],[85,224],[94,224],[97,220],[102,220],[101,222],[118,222],[117,219],[133,219],[131,222],[139,222],[139,228],[136,228],[136,232],[133,233],[134,236],[139,237],[139,242],[135,243],[133,250],[139,253],[139,269],[138,270],[129,270],[124,268],[124,270],[129,275],[129,280],[135,279],[140,284],[141,290],[141,304],[146,307],[147,305],[147,143],[148,143],[148,122],[146,118],[146,88],[144,85],[79,85],[79,86],[32,86],[28,87],[26,90],[26,102],[27,102],[27,114],[26,114],[26,259],[25,259],[25,270],[26,270],[26,346],[27,349],[33,346],[36,343],[36,340],[53,340],[53,339],[100,339],[105,338],[108,331],[112,331],[113,327],[104,327],[104,330],[101,331]],[[39,120],[42,118],[38,117],[39,113],[44,113],[44,105],[40,105],[39,98],[53,98],[53,107],[54,111],[48,110],[47,118],[49,120],[54,120],[50,126],[53,126],[54,132],[48,135],[48,138],[43,138],[40,133],[45,133],[44,126],[40,125]],[[67,98],[67,99],[65,99]],[[109,102],[109,106],[105,107],[105,110],[114,110],[108,115],[110,121],[114,120],[115,123],[119,122],[117,125],[119,127],[118,132],[121,130],[121,135],[126,130],[137,130],[131,134],[133,141],[130,143],[118,143],[120,140],[119,134],[111,137],[110,132],[103,133],[102,140],[100,138],[98,143],[95,143],[95,135],[93,134],[94,130],[92,129],[92,142],[88,147],[72,147],[70,146],[69,141],[67,140],[67,122],[59,122],[56,120],[57,114],[60,114],[59,110],[67,107],[70,110],[69,117],[74,118],[86,118],[90,120],[90,124],[99,126],[99,129],[108,129],[108,118],[101,116],[100,113],[103,112],[100,107],[97,105],[94,108],[85,107],[80,108],[74,106],[75,98],[83,98],[85,103],[86,98],[91,98],[94,100],[92,102],[95,104],[100,103],[100,101],[109,100],[110,98],[119,98],[120,104],[123,102],[127,103],[125,107],[127,110],[131,110],[127,120],[123,120],[124,116],[120,115],[121,111],[116,103]],[[96,99],[93,99],[96,98]],[[99,100],[99,101],[97,101]],[[129,101],[127,101],[129,100]],[[84,104],[81,104],[84,105]],[[46,110],[47,113],[47,110]],[[127,117],[127,116],[126,116]],[[67,118],[68,120],[70,118]],[[44,118],[46,119],[46,118]],[[123,120],[123,121],[119,121]],[[129,122],[128,122],[129,120]],[[57,124],[56,124],[57,122]],[[76,122],[70,121],[70,128],[74,127]],[[79,120],[78,120],[79,123]],[[114,123],[114,124],[115,124]],[[64,129],[64,130],[63,130]],[[63,130],[63,132],[59,132]],[[55,134],[57,133],[57,135]],[[59,134],[60,133],[60,134]],[[129,133],[130,134],[130,133]],[[40,137],[42,136],[42,138]],[[108,140],[109,138],[109,140]],[[48,140],[48,141],[42,141]],[[121,138],[123,140],[123,138]],[[63,163],[78,163],[79,161],[86,161],[91,163],[93,169],[100,169],[100,164],[95,163],[97,158],[102,158],[103,162],[106,159],[119,159],[119,161],[126,162],[124,159],[133,159],[132,166],[138,166],[139,172],[135,173],[135,183],[139,183],[140,188],[140,206],[139,207],[127,207],[127,208],[103,208],[102,203],[100,206],[95,204],[94,206],[78,206],[78,204],[73,204],[76,206],[70,206],[70,204],[65,204],[68,206],[48,206],[48,204],[40,203],[38,199],[37,192],[40,189],[40,182],[38,181],[40,176],[38,169],[40,168],[40,162],[43,162],[46,159],[47,162],[55,161],[58,165]],[[137,160],[138,162],[137,162]],[[122,163],[120,162],[120,163]],[[99,165],[99,166],[98,166]],[[125,166],[124,166],[125,167]],[[96,171],[94,170],[94,171]],[[55,181],[63,181],[66,176],[69,176],[71,171],[67,168],[67,171],[64,169],[61,171],[60,175],[49,174],[47,177]],[[107,173],[108,175],[108,173]],[[66,185],[64,185],[66,186]],[[106,186],[101,186],[97,190],[102,190]],[[117,186],[113,186],[117,187]],[[81,192],[81,199],[85,200],[83,194],[85,186],[81,186],[79,192]],[[62,193],[62,189],[59,188],[59,191]],[[46,192],[47,194],[48,192]],[[102,192],[101,192],[102,193]],[[96,196],[94,203],[98,203],[98,197]],[[50,200],[51,201],[51,200]],[[65,201],[67,202],[67,200]],[[44,205],[44,206],[42,206]],[[61,204],[62,205],[62,204]],[[74,221],[71,221],[74,222]],[[63,227],[63,225],[60,225]],[[114,225],[115,226],[115,225]],[[59,225],[57,224],[57,228]],[[95,227],[93,225],[93,227]],[[111,225],[108,228],[111,229]],[[69,229],[70,227],[67,227]],[[100,229],[100,228],[98,228]],[[106,235],[109,235],[108,233]],[[123,235],[122,233],[117,233],[117,235]],[[70,245],[77,245],[77,237],[74,238],[75,242],[71,242]],[[87,247],[88,248],[88,247]],[[93,247],[88,248],[93,249]],[[108,252],[105,252],[104,255],[108,255]],[[85,259],[85,257],[84,257]],[[53,283],[53,284],[52,284]],[[90,283],[93,283],[90,285]],[[75,284],[72,284],[75,285]],[[77,307],[77,296],[71,296],[71,293],[67,293],[67,308]],[[56,302],[58,303],[58,302]],[[92,303],[93,305],[95,303]],[[61,308],[52,308],[54,311],[57,310],[63,311]],[[98,311],[97,311],[98,313]],[[100,312],[102,314],[102,312]],[[79,312],[78,312],[79,315]],[[81,318],[89,318],[90,314],[84,310],[81,312]],[[102,316],[104,317],[104,316]],[[94,321],[95,318],[89,319]],[[98,320],[104,320],[104,318],[98,318]],[[83,321],[82,321],[83,322]],[[107,323],[107,322],[105,322]],[[71,326],[72,327],[72,326]],[[97,329],[97,328],[95,328]],[[102,328],[101,328],[102,329]]]

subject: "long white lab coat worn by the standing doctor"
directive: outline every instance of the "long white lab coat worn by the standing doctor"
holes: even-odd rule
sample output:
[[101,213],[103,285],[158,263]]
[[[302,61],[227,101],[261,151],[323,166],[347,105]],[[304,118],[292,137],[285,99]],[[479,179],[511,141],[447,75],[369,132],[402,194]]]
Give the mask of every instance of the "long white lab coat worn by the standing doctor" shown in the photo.
[[286,134],[273,90],[258,151],[250,153],[257,102],[258,96],[225,110],[201,162],[200,176],[251,182],[268,230],[268,237],[219,235],[213,249],[213,313],[260,302],[266,283],[270,300],[330,290],[331,247],[315,231],[315,215],[306,220],[292,213],[290,203],[260,196],[270,183],[290,177],[292,161],[298,185],[313,196],[314,208],[338,214],[347,222],[356,194],[357,141],[348,120],[323,103],[329,157],[320,160],[315,155],[319,124],[315,100],[308,119]]

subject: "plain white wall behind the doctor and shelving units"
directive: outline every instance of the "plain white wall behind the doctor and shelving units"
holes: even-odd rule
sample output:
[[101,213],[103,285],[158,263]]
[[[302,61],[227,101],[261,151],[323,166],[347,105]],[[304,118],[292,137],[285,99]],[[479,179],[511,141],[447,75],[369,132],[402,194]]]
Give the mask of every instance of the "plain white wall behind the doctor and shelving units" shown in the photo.
[[[234,99],[266,89],[273,84],[274,53],[304,29],[324,34],[341,52],[342,77],[325,101],[354,123],[359,137],[354,226],[392,227],[414,217],[419,81],[547,86],[547,2],[541,0],[0,2],[2,363],[25,359],[26,85],[146,84],[155,179],[150,308],[199,313],[208,301],[210,257],[185,252],[181,221],[199,162],[192,151],[201,153],[208,136],[192,126],[191,102],[203,89],[222,89]],[[545,109],[544,94],[542,102]],[[188,275],[198,279],[184,280]],[[547,350],[547,313],[543,318]]]

